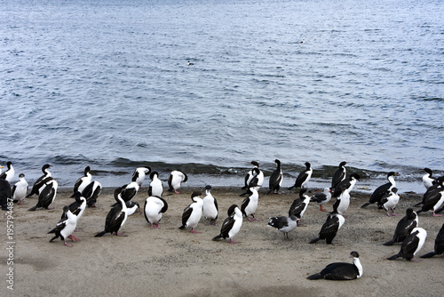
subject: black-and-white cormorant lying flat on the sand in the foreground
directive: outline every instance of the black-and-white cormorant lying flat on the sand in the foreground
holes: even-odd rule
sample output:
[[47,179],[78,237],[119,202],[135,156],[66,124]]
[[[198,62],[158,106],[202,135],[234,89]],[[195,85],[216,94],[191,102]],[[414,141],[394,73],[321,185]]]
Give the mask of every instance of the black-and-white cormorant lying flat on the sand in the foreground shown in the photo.
[[363,269],[358,252],[350,253],[353,263],[335,262],[327,265],[321,272],[307,277],[307,279],[351,280],[362,277]]

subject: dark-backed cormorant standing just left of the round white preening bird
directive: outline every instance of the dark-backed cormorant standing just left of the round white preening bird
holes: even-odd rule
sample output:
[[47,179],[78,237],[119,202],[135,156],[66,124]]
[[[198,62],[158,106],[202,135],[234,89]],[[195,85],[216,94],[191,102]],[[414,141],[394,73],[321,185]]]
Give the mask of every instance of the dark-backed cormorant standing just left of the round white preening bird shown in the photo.
[[115,234],[119,237],[126,237],[123,233],[119,233],[119,229],[121,229],[128,219],[128,208],[126,207],[126,203],[122,198],[122,188],[115,189],[114,196],[115,200],[118,201],[118,204],[113,206],[109,212],[107,213],[107,218],[105,220],[105,229],[94,237],[103,237],[107,233]]

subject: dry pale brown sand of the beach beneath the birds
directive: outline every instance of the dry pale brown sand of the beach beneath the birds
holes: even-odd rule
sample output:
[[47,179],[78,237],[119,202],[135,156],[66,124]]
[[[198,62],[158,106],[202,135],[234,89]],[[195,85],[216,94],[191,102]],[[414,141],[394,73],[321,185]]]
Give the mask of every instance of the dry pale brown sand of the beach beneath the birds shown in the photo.
[[[180,194],[164,193],[169,209],[163,215],[161,229],[150,229],[143,214],[135,213],[123,226],[128,237],[110,234],[93,237],[104,229],[109,206],[114,203],[113,189],[105,189],[97,208],[87,208],[79,220],[76,232],[81,239],[74,247],[59,239],[49,243],[63,205],[73,201],[70,191],[60,190],[52,204],[54,210],[28,212],[37,198],[27,198],[25,205],[14,205],[13,266],[7,265],[8,253],[1,253],[0,271],[2,296],[442,296],[444,258],[387,261],[398,253],[400,245],[384,246],[392,238],[400,217],[388,217],[376,205],[360,206],[369,196],[353,191],[352,204],[345,213],[345,224],[334,240],[336,245],[316,237],[327,213],[311,204],[303,217],[306,227],[298,227],[284,240],[283,234],[267,227],[270,216],[287,215],[297,193],[284,190],[281,195],[266,196],[259,191],[257,217],[263,221],[246,221],[234,238],[241,244],[230,245],[212,241],[220,227],[206,226],[202,221],[191,234],[180,230],[181,214],[191,202],[194,189],[184,188]],[[202,189],[204,193],[204,189]],[[218,199],[219,226],[232,204],[241,205],[240,189],[213,189]],[[397,213],[404,215],[421,195],[403,195]],[[142,206],[147,189],[139,191],[135,200]],[[332,199],[334,200],[334,199]],[[332,201],[326,205],[332,209]],[[420,227],[428,237],[417,254],[431,252],[443,219],[421,213]],[[6,238],[6,219],[2,215],[2,242]],[[3,245],[3,246],[4,246]],[[358,251],[364,274],[361,279],[335,282],[309,281],[305,277],[334,261],[351,262],[351,251]],[[13,267],[13,288],[7,289],[8,269]]]

